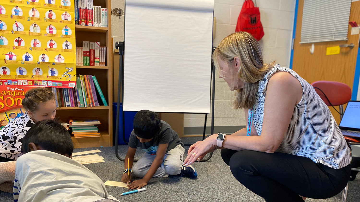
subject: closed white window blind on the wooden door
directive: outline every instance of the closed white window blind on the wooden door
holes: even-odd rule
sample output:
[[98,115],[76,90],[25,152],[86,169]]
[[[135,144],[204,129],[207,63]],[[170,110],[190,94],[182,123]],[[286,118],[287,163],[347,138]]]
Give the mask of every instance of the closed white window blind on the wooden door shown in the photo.
[[346,41],[351,0],[305,0],[301,42]]

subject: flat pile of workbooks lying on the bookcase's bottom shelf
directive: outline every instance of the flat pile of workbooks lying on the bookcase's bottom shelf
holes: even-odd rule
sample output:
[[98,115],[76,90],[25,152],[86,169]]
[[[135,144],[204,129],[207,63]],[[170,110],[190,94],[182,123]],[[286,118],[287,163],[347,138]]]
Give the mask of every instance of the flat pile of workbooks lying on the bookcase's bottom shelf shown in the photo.
[[100,137],[97,126],[101,124],[96,118],[70,118],[71,134],[74,137]]

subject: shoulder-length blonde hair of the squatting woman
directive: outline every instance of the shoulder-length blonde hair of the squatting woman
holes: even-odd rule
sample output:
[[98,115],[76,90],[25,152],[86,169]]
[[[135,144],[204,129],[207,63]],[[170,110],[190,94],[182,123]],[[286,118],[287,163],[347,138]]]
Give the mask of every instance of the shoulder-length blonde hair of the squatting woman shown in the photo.
[[[238,72],[234,72],[233,61],[235,57],[241,61]],[[229,65],[230,75],[237,75],[237,77],[234,76],[234,80],[244,81],[244,88],[237,89],[235,92],[234,108],[252,108],[255,103],[259,80],[262,79],[266,71],[274,67],[275,61],[264,64],[260,44],[247,32],[235,32],[222,39],[213,52],[212,58],[220,75],[223,72],[220,70],[219,60]]]

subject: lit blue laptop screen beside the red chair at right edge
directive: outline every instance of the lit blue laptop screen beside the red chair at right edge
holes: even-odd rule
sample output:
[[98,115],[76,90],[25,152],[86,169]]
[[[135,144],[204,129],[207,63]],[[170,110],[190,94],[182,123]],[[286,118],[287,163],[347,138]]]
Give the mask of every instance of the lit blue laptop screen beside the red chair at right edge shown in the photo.
[[351,130],[352,128],[360,130],[360,102],[349,101],[346,110],[339,124],[341,129]]

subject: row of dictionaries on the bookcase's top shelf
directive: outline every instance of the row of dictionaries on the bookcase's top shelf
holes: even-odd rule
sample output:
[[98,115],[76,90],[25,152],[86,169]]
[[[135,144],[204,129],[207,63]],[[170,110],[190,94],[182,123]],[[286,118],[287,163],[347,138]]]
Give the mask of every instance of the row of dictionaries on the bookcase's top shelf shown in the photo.
[[108,9],[94,6],[94,0],[75,0],[75,24],[108,27]]

